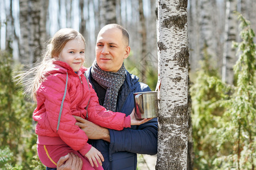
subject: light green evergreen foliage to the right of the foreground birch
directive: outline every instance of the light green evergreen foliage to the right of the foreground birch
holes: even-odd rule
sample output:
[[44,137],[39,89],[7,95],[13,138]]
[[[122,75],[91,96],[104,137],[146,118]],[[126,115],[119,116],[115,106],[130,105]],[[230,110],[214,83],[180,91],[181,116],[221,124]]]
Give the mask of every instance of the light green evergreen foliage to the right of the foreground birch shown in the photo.
[[[250,23],[238,14],[242,42],[235,43],[236,85],[221,82],[209,67],[191,88],[195,169],[253,169],[256,165],[255,44]],[[212,74],[214,73],[214,74]]]

